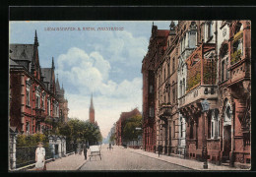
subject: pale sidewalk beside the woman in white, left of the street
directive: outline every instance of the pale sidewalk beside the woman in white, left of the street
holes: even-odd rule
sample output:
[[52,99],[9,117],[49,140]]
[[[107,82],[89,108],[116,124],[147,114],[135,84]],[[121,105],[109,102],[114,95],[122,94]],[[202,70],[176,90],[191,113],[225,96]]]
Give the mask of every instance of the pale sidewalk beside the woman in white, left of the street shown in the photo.
[[78,170],[84,163],[86,163],[84,152],[82,154],[72,154],[66,157],[58,158],[55,161],[46,163],[47,171],[50,170]]

